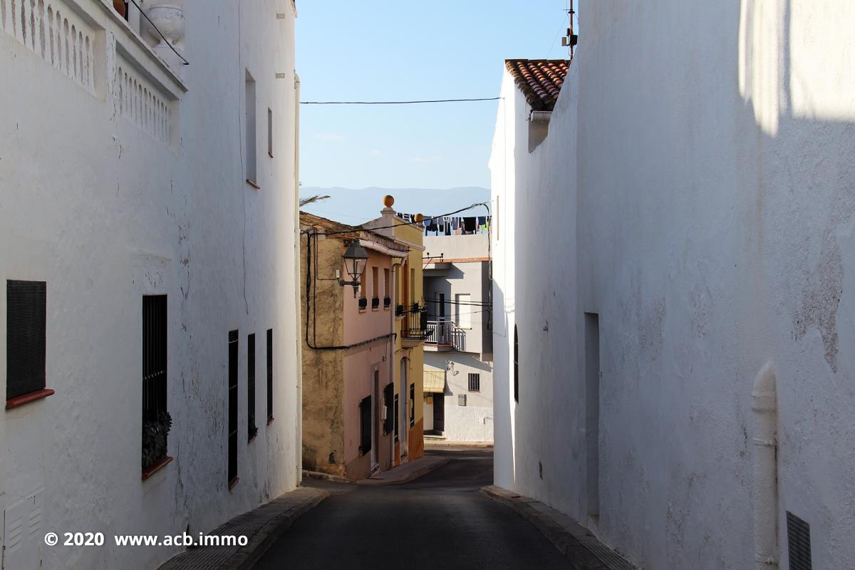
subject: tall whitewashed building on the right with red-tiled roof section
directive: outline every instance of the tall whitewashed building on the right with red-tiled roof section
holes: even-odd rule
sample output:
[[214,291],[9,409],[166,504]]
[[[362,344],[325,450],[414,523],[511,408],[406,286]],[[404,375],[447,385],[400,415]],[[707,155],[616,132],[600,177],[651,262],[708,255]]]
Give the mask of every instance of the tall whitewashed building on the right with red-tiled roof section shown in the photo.
[[586,2],[560,95],[506,64],[496,484],[640,567],[855,567],[853,25]]

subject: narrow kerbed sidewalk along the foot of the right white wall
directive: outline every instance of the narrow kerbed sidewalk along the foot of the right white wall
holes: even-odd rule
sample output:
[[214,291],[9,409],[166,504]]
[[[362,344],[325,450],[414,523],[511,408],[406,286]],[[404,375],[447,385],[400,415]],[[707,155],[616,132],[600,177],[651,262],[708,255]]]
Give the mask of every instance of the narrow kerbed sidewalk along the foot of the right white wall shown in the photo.
[[[481,487],[481,492],[493,501],[503,504],[505,507],[516,511],[523,519],[528,520],[535,528],[545,536],[561,554],[567,558],[570,566],[574,570],[625,570],[626,568],[634,568],[626,561],[620,560],[619,565],[610,565],[603,561],[598,555],[594,554],[586,544],[582,544],[580,538],[570,532],[566,526],[563,526],[549,514],[534,508],[533,505],[540,505],[543,509],[548,509],[539,501],[535,501],[529,497],[523,497],[519,493],[508,491],[496,485]],[[551,509],[548,509],[551,510]],[[575,521],[574,521],[575,522]],[[589,538],[586,542],[596,541],[593,534],[587,532],[584,527],[575,523],[581,530],[587,533]],[[607,549],[604,544],[598,543],[598,550]],[[611,552],[609,558],[619,558],[617,553]]]

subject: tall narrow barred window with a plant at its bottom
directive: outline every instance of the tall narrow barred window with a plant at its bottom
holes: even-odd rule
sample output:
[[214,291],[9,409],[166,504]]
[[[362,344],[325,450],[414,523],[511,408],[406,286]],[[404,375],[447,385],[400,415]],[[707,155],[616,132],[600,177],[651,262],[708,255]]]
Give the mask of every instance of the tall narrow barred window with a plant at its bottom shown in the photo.
[[167,300],[166,295],[150,295],[143,297],[144,472],[166,458],[171,426],[167,411]]

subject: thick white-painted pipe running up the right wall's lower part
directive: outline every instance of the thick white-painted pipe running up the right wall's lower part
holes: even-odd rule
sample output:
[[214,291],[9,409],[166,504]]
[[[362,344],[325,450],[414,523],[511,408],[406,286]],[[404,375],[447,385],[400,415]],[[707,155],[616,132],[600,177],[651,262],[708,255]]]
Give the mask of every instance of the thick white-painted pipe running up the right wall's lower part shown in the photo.
[[754,379],[754,568],[778,567],[778,398],[775,366],[767,362]]

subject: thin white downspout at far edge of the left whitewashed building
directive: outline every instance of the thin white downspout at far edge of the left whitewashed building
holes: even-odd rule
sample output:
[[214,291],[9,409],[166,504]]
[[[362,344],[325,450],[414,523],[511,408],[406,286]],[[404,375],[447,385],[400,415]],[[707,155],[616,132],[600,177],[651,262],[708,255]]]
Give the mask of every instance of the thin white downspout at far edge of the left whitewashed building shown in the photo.
[[[306,260],[307,263],[310,260]],[[307,268],[308,270],[308,268]],[[300,320],[300,77],[294,73],[294,306]],[[306,315],[306,319],[309,315]],[[299,331],[294,335],[297,347],[297,426],[295,432],[294,465],[297,485],[303,481],[303,344]]]

